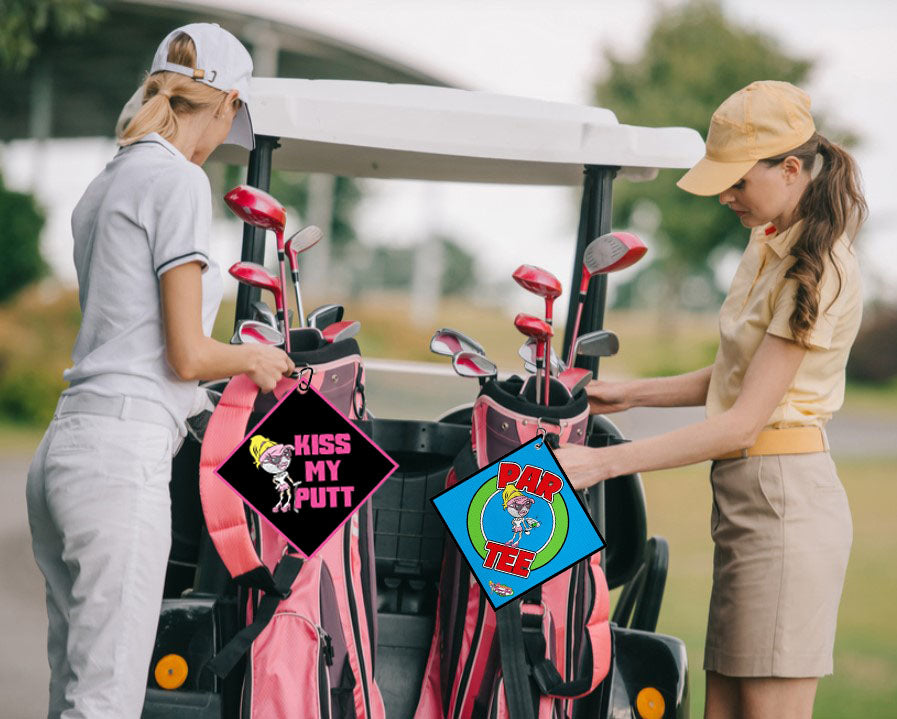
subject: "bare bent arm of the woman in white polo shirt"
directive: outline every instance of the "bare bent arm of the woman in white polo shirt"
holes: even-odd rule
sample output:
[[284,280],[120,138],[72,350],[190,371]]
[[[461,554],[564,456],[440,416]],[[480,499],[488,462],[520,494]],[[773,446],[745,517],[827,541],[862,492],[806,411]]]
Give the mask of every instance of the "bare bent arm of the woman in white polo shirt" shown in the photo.
[[202,331],[202,281],[198,262],[163,273],[160,279],[165,354],[183,380],[221,379],[245,372],[262,391],[274,389],[295,369],[283,350],[266,345],[228,345]]

